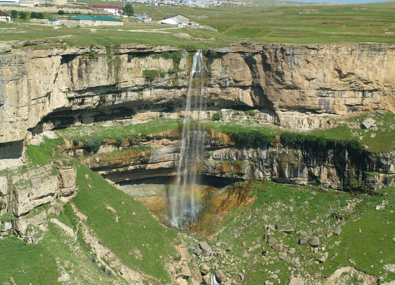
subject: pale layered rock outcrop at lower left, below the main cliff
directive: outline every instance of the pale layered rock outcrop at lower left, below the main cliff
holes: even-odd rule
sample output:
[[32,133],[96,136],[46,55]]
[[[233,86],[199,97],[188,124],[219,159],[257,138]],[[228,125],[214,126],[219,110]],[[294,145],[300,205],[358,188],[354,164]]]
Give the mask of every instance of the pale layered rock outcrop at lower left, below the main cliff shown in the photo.
[[32,242],[35,228],[29,229],[29,225],[43,225],[48,214],[60,212],[62,203],[56,198],[75,192],[75,178],[75,169],[60,161],[20,175],[0,176],[0,214],[9,217],[2,219],[1,235],[15,231]]

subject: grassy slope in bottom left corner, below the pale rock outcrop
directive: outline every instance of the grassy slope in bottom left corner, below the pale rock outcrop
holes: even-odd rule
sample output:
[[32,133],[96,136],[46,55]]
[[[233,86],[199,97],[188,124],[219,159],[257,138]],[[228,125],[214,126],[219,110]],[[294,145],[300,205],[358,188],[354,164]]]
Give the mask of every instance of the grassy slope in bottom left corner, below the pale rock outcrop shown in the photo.
[[[76,230],[77,219],[70,206],[55,218]],[[51,222],[38,244],[6,237],[0,240],[0,252],[1,283],[12,284],[13,280],[18,285],[56,285],[60,284],[58,278],[66,273],[68,284],[126,284],[122,277],[106,272],[97,263],[81,232],[77,232],[75,240]]]

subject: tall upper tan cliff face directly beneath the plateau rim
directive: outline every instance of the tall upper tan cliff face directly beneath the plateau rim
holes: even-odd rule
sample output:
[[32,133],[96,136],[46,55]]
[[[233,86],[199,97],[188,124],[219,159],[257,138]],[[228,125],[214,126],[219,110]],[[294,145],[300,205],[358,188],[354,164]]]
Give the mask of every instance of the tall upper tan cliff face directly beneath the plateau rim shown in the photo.
[[[97,55],[87,56],[91,50]],[[186,72],[152,81],[143,75],[174,68],[171,59],[152,56],[163,51],[173,49],[83,47],[0,55],[0,148],[8,146],[2,156],[12,154],[5,143],[23,140],[27,130],[182,108]],[[392,45],[235,45],[219,49],[207,64],[209,106],[260,107],[268,110],[265,119],[279,125],[325,127],[317,114],[395,111]],[[179,68],[186,67],[185,53]]]

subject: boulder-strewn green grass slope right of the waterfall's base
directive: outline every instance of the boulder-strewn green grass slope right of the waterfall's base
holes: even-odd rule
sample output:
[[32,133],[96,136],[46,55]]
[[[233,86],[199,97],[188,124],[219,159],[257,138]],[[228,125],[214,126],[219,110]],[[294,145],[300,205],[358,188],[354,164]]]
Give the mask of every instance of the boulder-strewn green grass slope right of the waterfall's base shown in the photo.
[[[271,249],[272,244],[267,243],[264,238],[267,237],[268,232],[271,232],[272,238],[286,245],[288,249],[295,248],[295,254],[289,256],[299,257],[302,264],[300,273],[304,279],[315,274],[327,277],[340,266],[349,266],[349,260],[353,259],[355,268],[376,276],[385,276],[383,277],[385,281],[394,280],[394,273],[384,274],[383,270],[384,264],[393,264],[395,261],[395,247],[391,240],[395,232],[394,187],[382,189],[377,196],[353,196],[350,193],[273,182],[266,184],[259,182],[252,187],[258,195],[254,205],[250,209],[243,210],[240,215],[238,215],[240,209],[236,209],[216,229],[214,240],[209,241],[213,245],[219,241],[224,242],[224,248],[233,247],[228,254],[237,264],[229,271],[241,272],[245,269],[243,284],[262,284],[265,280],[276,284],[276,279],[280,279],[282,284],[289,282],[292,270],[288,268],[293,267],[292,263],[278,259],[278,251]],[[315,191],[316,195],[312,195],[312,191]],[[383,196],[384,192],[387,192],[386,196]],[[383,200],[388,201],[385,210],[374,210],[374,207],[381,204]],[[272,210],[269,211],[269,207]],[[293,207],[293,211],[289,210],[290,207]],[[333,212],[343,213],[344,220],[334,219]],[[261,217],[265,215],[268,216],[267,219],[262,220]],[[316,221],[316,224],[310,221]],[[265,231],[263,229],[265,224],[292,228],[295,231],[292,234],[280,233],[277,230]],[[325,236],[339,225],[342,229],[339,236],[334,234],[328,238]],[[325,263],[315,262],[320,256],[312,252],[310,245],[298,244],[298,231],[311,231],[312,235],[319,236],[319,253],[329,253]],[[246,248],[242,248],[243,242],[246,242],[247,248],[251,247],[252,250],[247,251]],[[271,253],[263,256],[262,248],[271,250]],[[219,257],[219,260],[209,261],[209,266],[213,262],[220,264],[220,259]],[[268,261],[273,261],[274,264],[268,265]],[[273,271],[276,269],[280,272],[276,273],[278,277],[273,277]]]

